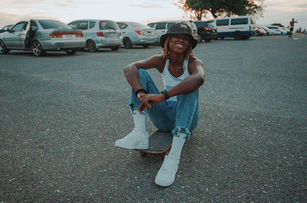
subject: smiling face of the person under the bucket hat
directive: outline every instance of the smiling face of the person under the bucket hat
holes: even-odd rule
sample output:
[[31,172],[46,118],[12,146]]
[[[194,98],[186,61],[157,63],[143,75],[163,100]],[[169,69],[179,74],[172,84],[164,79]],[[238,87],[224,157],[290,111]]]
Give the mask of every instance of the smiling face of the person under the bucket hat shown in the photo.
[[189,43],[188,34],[172,34],[169,40],[169,50],[176,54],[183,54],[187,50]]

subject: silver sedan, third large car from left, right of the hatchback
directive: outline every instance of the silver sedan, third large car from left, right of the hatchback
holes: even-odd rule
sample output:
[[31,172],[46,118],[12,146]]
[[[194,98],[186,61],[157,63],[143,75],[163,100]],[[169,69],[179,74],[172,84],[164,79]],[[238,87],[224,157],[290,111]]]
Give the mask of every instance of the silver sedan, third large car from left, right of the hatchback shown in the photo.
[[133,45],[142,45],[144,48],[147,48],[157,39],[155,29],[142,23],[130,21],[118,21],[116,23],[122,31],[122,42],[127,49]]

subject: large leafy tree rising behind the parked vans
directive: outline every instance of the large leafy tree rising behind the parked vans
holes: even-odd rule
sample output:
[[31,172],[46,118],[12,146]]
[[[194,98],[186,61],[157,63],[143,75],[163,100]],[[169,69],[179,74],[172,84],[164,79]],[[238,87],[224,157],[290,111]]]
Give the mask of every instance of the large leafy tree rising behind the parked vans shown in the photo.
[[265,0],[179,0],[173,3],[185,11],[187,16],[195,20],[201,20],[208,14],[214,18],[218,16],[243,16],[258,15],[262,16]]

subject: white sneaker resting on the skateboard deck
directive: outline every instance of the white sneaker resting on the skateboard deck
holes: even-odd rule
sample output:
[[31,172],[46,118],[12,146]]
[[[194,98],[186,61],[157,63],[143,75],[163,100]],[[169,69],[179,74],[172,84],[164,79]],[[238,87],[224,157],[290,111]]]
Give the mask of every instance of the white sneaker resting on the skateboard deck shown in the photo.
[[115,147],[126,149],[148,149],[148,132],[143,132],[133,129],[126,137],[116,140]]

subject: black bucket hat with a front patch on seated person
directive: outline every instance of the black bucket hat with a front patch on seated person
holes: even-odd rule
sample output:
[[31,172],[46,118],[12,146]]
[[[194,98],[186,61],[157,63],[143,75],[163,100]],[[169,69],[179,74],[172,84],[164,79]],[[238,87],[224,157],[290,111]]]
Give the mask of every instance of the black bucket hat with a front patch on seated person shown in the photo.
[[192,36],[192,28],[185,23],[173,23],[164,35],[160,37],[160,45],[164,48],[164,43],[169,34],[188,34],[192,43],[192,49],[196,47],[197,40]]

